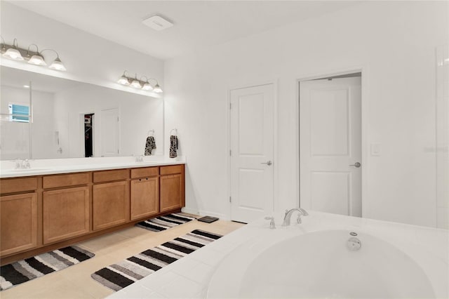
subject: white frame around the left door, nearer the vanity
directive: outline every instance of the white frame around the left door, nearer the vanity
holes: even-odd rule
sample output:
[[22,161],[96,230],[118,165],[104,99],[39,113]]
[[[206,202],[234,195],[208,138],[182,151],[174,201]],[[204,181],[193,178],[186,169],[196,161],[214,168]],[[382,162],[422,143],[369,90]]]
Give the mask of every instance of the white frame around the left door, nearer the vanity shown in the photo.
[[227,88],[227,102],[226,102],[226,110],[227,110],[227,218],[232,220],[232,206],[231,206],[231,182],[232,182],[232,168],[231,168],[231,155],[229,152],[231,151],[231,91],[235,89],[249,88],[255,86],[269,85],[273,84],[273,211],[276,211],[279,208],[279,201],[275,199],[278,198],[279,194],[279,159],[278,159],[278,93],[279,93],[279,78],[269,79],[269,80],[260,80],[260,81],[250,81],[248,83],[241,83],[228,86]]

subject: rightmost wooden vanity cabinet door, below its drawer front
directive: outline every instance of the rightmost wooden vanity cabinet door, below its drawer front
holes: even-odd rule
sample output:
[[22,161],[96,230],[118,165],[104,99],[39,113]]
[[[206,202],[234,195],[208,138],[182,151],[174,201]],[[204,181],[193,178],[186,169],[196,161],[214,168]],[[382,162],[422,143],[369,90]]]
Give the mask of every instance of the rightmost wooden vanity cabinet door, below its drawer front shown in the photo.
[[161,176],[161,213],[183,206],[182,175]]

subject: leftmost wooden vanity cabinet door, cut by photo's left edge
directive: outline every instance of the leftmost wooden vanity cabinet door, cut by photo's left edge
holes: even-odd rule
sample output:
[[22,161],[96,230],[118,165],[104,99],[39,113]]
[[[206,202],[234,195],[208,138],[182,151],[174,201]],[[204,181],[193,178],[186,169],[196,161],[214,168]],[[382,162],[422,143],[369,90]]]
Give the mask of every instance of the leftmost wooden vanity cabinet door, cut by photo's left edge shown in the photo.
[[0,197],[0,255],[37,246],[37,193]]

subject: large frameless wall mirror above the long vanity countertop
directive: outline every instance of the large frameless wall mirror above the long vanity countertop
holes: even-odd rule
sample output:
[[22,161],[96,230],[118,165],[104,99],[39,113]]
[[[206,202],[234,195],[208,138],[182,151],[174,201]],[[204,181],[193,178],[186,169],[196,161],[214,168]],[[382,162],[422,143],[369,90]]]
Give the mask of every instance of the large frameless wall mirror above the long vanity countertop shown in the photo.
[[0,67],[0,158],[163,154],[163,100]]

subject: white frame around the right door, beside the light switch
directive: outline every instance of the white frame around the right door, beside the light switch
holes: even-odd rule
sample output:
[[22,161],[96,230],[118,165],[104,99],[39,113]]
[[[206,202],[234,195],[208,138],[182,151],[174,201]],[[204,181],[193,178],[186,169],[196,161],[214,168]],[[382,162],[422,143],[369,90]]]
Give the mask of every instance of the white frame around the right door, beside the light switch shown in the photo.
[[302,74],[297,76],[296,79],[296,157],[297,157],[297,168],[296,168],[296,177],[297,177],[297,199],[298,204],[300,204],[300,83],[302,81],[310,81],[314,79],[321,79],[326,77],[334,77],[341,76],[345,74],[354,74],[361,73],[361,151],[362,151],[362,178],[361,178],[361,188],[362,188],[362,217],[369,218],[370,208],[369,208],[369,198],[368,198],[368,169],[369,169],[369,100],[368,100],[368,67],[350,67],[347,69],[333,69],[328,72],[323,71],[314,74]]

